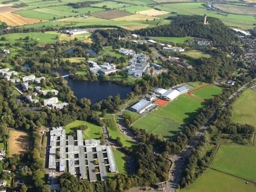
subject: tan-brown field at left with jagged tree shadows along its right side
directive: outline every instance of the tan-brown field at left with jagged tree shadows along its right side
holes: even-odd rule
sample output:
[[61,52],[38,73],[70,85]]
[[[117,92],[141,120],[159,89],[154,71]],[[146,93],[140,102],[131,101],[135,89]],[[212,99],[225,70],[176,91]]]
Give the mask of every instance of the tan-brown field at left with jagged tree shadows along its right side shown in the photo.
[[8,139],[10,157],[21,153],[26,153],[29,148],[30,136],[21,131],[10,130]]

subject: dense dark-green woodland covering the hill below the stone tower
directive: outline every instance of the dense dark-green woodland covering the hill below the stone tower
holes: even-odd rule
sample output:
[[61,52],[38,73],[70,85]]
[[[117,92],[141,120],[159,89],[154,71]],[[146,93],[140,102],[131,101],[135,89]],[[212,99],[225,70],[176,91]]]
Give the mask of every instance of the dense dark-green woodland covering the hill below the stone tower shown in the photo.
[[217,18],[207,17],[209,22],[207,25],[203,23],[203,16],[198,15],[178,15],[169,19],[174,20],[169,25],[140,29],[136,30],[135,33],[155,37],[192,36],[212,40],[216,46],[228,46],[234,40],[234,34]]

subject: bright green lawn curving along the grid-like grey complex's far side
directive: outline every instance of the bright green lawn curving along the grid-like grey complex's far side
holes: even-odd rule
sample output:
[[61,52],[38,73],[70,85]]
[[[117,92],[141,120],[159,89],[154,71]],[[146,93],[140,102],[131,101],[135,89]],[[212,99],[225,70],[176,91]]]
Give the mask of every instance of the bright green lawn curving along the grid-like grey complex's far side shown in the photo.
[[100,126],[91,124],[86,121],[76,120],[70,124],[67,124],[64,128],[66,129],[66,134],[70,132],[75,132],[76,127],[80,125],[87,125],[88,129],[83,131],[83,138],[84,139],[98,139],[100,138],[100,135],[98,134],[99,131],[102,131],[102,128]]

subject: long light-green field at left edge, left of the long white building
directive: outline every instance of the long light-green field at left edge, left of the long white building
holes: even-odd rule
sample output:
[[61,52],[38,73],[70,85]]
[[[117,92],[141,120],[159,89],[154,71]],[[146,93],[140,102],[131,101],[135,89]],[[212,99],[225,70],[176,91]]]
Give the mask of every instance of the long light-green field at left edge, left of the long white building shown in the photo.
[[[29,36],[30,38],[33,38],[34,40],[36,40],[40,43],[55,43],[56,42],[56,36],[60,36],[60,34],[30,32],[30,33],[12,33],[12,34],[6,34],[6,35],[3,35],[3,36],[6,37],[5,42],[10,42],[12,44],[17,42],[17,40],[19,38],[24,39],[26,36]],[[25,42],[25,40],[24,40],[24,42]]]

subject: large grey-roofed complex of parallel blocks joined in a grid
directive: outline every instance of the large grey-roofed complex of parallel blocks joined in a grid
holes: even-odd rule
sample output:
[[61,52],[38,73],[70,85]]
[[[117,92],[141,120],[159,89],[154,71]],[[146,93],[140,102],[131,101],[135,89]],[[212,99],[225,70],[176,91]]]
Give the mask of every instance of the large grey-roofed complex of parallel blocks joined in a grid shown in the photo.
[[[100,174],[101,180],[107,179],[107,172],[117,172],[116,163],[112,148],[100,144],[100,140],[83,140],[81,130],[76,132],[77,139],[71,135],[66,136],[66,131],[60,128],[53,128],[50,131],[50,169],[59,169],[60,172],[66,171],[68,162],[68,172],[81,179],[89,179],[91,182],[97,181],[96,174]],[[68,150],[66,151],[66,148]],[[56,158],[56,150],[60,150],[60,158]],[[106,155],[104,155],[104,153]],[[95,156],[97,154],[97,156]],[[94,160],[98,160],[98,165]],[[109,164],[105,164],[105,160]],[[86,164],[87,161],[87,164]],[[107,167],[109,171],[107,171]],[[96,172],[95,169],[99,172]],[[88,174],[87,174],[88,171]]]

